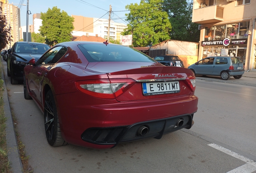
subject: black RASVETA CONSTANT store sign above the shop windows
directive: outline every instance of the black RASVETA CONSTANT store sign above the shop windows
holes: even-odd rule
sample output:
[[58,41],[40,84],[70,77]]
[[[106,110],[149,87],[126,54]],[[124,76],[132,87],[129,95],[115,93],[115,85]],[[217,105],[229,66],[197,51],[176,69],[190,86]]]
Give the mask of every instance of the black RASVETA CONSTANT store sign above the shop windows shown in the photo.
[[236,44],[247,44],[247,38],[242,39],[230,39],[225,38],[224,40],[213,40],[213,41],[202,41],[202,46],[229,46],[229,45],[236,45]]

